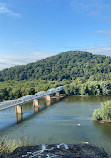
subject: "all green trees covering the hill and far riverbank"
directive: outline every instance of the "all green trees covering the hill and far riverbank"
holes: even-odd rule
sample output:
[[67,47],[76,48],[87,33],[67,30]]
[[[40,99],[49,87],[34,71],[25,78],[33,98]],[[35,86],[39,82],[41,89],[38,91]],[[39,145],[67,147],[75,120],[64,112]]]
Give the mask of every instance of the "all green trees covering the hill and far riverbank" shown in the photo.
[[0,101],[66,85],[67,95],[111,95],[111,57],[82,51],[0,71]]

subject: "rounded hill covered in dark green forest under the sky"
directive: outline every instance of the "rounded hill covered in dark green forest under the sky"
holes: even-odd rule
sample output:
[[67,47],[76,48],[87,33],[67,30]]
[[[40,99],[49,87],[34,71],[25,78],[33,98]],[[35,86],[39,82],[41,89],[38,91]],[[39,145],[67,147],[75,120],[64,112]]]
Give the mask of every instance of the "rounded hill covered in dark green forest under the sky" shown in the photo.
[[111,79],[111,57],[82,51],[63,52],[58,55],[22,66],[0,71],[0,81],[6,80],[91,80]]

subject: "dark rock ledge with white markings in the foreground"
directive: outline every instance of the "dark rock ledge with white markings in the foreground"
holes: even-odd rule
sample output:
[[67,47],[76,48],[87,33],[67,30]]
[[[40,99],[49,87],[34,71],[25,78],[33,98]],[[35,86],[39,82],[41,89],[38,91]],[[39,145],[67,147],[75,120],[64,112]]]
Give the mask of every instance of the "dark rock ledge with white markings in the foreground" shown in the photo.
[[0,158],[111,158],[105,150],[91,144],[58,144],[19,147]]

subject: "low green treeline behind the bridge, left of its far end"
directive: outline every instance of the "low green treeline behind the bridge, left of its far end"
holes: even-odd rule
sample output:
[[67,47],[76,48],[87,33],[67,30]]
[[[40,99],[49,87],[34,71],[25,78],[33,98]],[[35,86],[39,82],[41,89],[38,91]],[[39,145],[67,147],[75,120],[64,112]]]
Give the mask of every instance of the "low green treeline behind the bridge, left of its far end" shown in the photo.
[[17,99],[25,95],[33,95],[39,91],[46,91],[68,84],[69,81],[5,81],[0,83],[0,101]]

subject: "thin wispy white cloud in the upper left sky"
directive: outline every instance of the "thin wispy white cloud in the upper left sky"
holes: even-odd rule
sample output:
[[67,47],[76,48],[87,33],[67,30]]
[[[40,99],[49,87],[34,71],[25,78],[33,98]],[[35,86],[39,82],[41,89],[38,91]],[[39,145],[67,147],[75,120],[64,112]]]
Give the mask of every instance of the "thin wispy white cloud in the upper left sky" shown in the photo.
[[8,9],[6,4],[4,4],[4,3],[0,3],[0,13],[1,14],[6,14],[6,15],[9,15],[9,16],[14,16],[14,17],[21,17],[20,14],[12,11],[11,9]]

